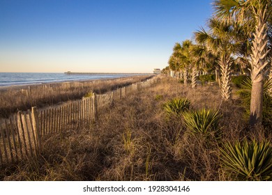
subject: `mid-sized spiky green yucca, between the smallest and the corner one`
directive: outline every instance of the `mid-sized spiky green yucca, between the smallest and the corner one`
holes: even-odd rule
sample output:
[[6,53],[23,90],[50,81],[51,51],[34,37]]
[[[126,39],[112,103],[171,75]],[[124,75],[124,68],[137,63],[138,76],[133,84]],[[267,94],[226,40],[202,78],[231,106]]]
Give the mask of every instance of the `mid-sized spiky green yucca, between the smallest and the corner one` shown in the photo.
[[211,133],[218,134],[221,114],[213,109],[201,109],[184,112],[184,123],[192,134],[202,134],[205,137]]

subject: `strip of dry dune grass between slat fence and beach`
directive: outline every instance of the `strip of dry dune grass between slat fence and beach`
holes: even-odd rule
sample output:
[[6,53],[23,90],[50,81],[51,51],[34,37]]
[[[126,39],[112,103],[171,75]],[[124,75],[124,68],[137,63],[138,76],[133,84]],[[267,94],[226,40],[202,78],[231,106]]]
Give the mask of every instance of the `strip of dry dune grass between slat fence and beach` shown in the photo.
[[90,92],[106,93],[150,78],[146,76],[103,78],[0,88],[0,118],[8,118],[18,110],[27,111],[29,107],[48,107],[60,102],[79,100]]

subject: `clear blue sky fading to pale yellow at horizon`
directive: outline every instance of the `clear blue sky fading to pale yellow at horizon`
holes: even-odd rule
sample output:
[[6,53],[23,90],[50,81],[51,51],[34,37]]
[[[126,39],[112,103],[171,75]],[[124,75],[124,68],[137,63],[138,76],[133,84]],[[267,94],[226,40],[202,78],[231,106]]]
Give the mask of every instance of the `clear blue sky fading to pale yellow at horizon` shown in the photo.
[[152,72],[212,0],[0,0],[0,72]]

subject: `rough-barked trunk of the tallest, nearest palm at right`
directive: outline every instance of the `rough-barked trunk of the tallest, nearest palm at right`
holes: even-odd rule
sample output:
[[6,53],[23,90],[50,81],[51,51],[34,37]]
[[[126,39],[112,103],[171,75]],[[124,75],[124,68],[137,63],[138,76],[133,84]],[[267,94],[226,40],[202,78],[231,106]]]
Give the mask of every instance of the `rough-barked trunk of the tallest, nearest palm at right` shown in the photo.
[[[266,10],[267,11],[267,10]],[[267,26],[262,10],[256,15],[257,24],[255,26],[254,39],[252,41],[251,54],[251,100],[250,100],[250,125],[254,126],[262,123],[262,104],[264,93],[264,69],[269,61],[267,55]]]

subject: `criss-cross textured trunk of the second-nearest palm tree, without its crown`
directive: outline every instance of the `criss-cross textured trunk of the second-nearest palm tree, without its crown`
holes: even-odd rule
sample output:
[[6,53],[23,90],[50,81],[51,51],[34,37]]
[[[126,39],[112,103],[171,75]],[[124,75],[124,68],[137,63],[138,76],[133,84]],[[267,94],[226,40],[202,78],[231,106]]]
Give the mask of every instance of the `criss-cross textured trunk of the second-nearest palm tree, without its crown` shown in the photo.
[[227,101],[232,98],[232,88],[230,86],[230,64],[231,59],[229,55],[222,55],[218,62],[221,68],[221,95],[222,100]]

